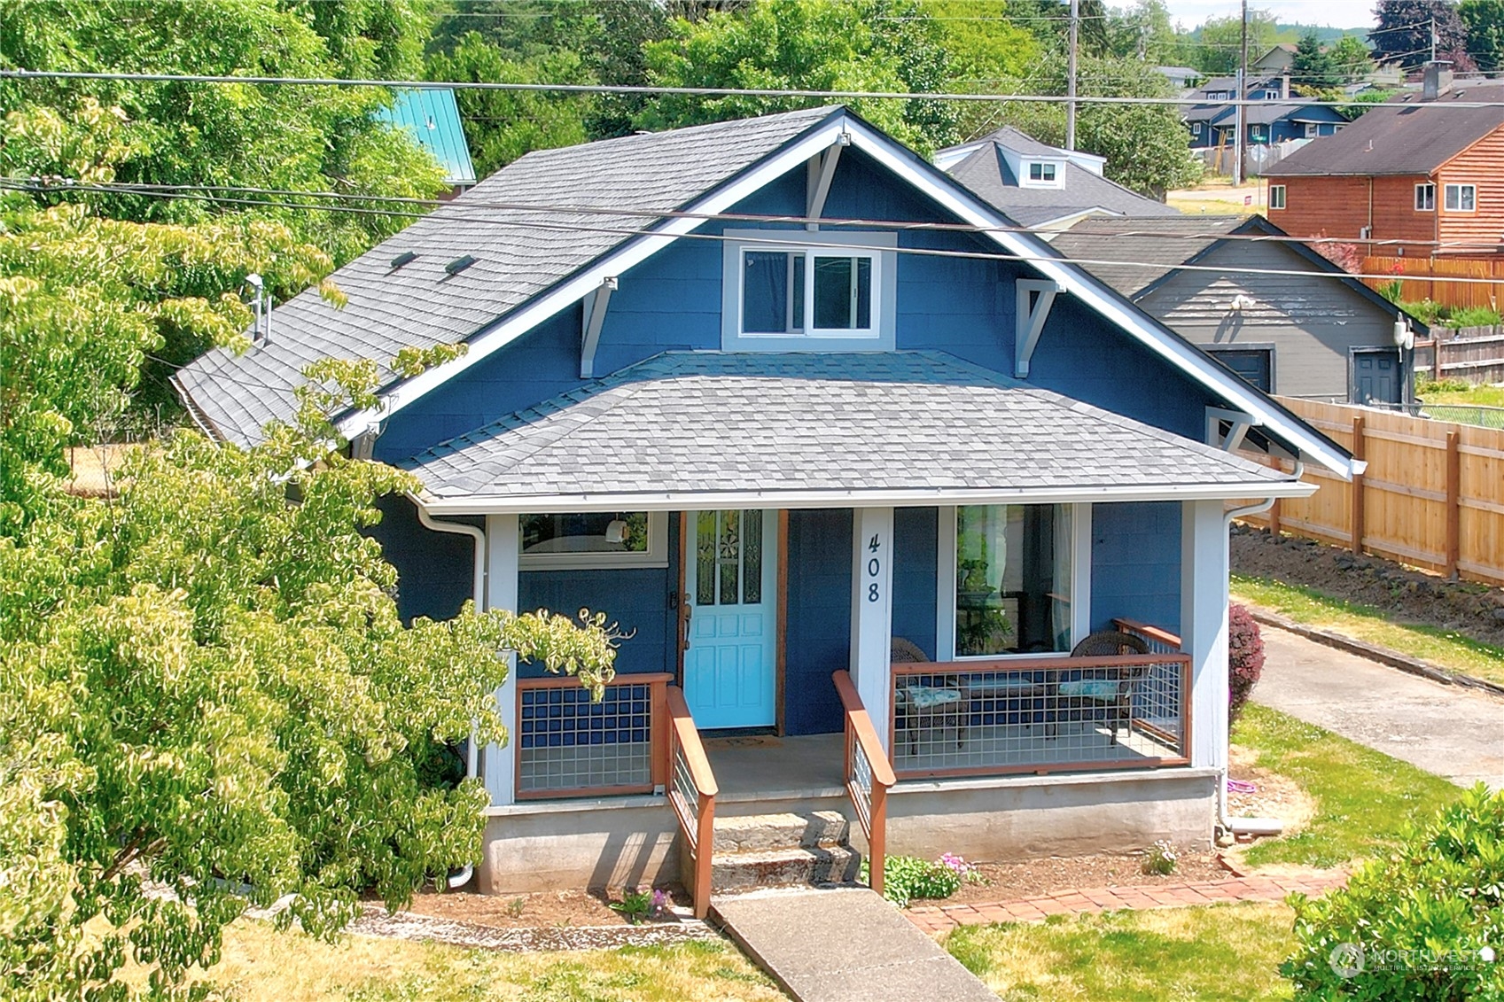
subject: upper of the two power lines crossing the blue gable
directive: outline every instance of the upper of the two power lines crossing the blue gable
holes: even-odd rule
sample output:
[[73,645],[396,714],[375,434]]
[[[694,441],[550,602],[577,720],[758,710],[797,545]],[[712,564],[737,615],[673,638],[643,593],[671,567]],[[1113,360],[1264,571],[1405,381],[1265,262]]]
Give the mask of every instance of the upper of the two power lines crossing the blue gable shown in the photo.
[[[842,226],[842,227],[865,227],[865,229],[884,229],[884,230],[899,230],[899,232],[929,232],[929,233],[1027,233],[1032,236],[1053,236],[1060,233],[1060,230],[1033,226],[976,226],[972,223],[935,223],[935,221],[911,221],[911,220],[881,220],[881,218],[865,218],[865,217],[809,217],[809,215],[769,215],[769,214],[752,214],[752,212],[692,212],[687,209],[636,209],[629,206],[603,206],[591,203],[544,203],[544,202],[496,202],[490,199],[480,199],[475,193],[466,194],[463,199],[445,200],[445,199],[420,199],[414,196],[381,196],[381,194],[359,194],[352,191],[307,191],[295,188],[260,188],[251,185],[190,185],[190,184],[141,184],[141,182],[86,182],[77,178],[32,178],[32,179],[0,179],[0,187],[9,185],[11,190],[23,190],[20,185],[32,185],[24,188],[30,193],[101,193],[101,194],[120,194],[120,196],[144,196],[144,197],[170,197],[176,193],[233,193],[236,196],[271,196],[277,199],[319,199],[332,200],[337,203],[358,203],[359,206],[370,208],[370,203],[388,203],[406,208],[423,208],[423,209],[439,209],[442,208],[447,214],[465,212],[474,209],[501,211],[501,212],[552,212],[556,215],[608,215],[608,217],[627,217],[627,218],[645,218],[651,221],[662,220],[695,220],[701,223],[755,223],[755,224],[794,224],[802,226],[806,223],[818,223],[821,226]],[[259,199],[245,199],[248,205],[272,205],[262,202]],[[326,211],[331,208],[320,203],[299,203],[298,208],[311,211]],[[1006,212],[1006,209],[1005,209]],[[414,212],[412,218],[426,218],[427,212]],[[1229,215],[1241,215],[1229,212]],[[1196,217],[1188,217],[1196,218]],[[474,220],[471,220],[474,221]],[[487,221],[487,220],[481,220]],[[513,223],[511,220],[489,220],[490,223]],[[517,221],[522,224],[522,221]],[[1373,239],[1373,238],[1355,238],[1342,239],[1334,236],[1321,238],[1302,238],[1290,235],[1266,235],[1266,233],[1220,233],[1215,230],[1202,233],[1157,233],[1154,230],[1131,230],[1131,232],[1102,232],[1090,229],[1071,229],[1069,233],[1075,236],[1095,236],[1102,239],[1116,238],[1152,238],[1152,239],[1179,239],[1179,241],[1247,241],[1259,244],[1363,244],[1367,247],[1438,247],[1442,250],[1495,250],[1498,244],[1468,244],[1463,241],[1420,241],[1420,239]]]

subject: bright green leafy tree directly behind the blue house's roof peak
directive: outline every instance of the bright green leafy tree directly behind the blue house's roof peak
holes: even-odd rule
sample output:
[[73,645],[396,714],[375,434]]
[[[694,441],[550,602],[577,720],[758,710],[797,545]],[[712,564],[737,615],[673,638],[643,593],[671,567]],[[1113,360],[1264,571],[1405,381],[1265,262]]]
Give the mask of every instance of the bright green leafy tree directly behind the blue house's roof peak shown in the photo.
[[[648,78],[672,87],[800,90],[942,90],[949,65],[938,26],[917,0],[766,0],[674,23],[674,36],[647,47]],[[820,99],[662,95],[638,126],[720,122],[820,104]],[[955,137],[946,101],[856,99],[880,128],[928,152]]]

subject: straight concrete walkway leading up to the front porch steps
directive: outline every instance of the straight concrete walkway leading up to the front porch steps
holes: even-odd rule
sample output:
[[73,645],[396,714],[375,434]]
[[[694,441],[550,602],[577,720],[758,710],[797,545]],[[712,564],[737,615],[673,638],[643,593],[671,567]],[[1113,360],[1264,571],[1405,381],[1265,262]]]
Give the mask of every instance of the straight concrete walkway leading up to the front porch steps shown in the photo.
[[799,1002],[997,1002],[866,888],[754,891],[711,898],[710,910]]

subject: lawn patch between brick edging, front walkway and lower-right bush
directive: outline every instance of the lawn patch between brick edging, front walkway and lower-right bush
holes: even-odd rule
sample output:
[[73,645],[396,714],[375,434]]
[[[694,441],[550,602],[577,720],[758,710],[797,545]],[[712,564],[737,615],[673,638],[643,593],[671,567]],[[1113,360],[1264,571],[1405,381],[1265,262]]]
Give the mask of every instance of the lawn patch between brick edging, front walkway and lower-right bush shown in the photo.
[[1214,904],[970,925],[945,948],[1005,999],[1250,1002],[1290,997],[1292,924],[1284,904]]

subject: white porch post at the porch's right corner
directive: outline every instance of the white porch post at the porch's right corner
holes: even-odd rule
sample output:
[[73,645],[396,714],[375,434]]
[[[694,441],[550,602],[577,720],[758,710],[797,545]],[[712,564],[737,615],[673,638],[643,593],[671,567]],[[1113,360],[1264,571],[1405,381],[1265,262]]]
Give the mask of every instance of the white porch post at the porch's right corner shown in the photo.
[[1193,766],[1227,766],[1227,522],[1221,501],[1181,504],[1181,648],[1191,656]]

